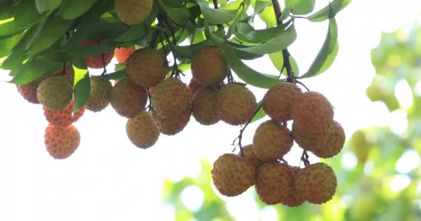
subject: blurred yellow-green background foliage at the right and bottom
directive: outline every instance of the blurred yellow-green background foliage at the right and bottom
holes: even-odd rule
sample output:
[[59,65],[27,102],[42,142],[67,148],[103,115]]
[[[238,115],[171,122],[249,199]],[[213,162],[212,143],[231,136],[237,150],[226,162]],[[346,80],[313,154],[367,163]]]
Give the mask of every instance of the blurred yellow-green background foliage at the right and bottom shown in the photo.
[[[384,102],[389,111],[404,111],[406,131],[396,134],[389,126],[356,131],[337,157],[325,160],[338,178],[334,198],[321,206],[270,206],[278,220],[421,220],[421,24],[384,33],[372,50],[372,61],[377,75],[366,93],[373,102]],[[410,88],[412,97],[406,97],[410,105],[402,105],[396,96],[395,87],[402,81]],[[404,169],[397,169],[398,161]],[[238,220],[227,211],[226,198],[212,187],[211,164],[203,162],[202,171],[197,179],[165,182],[163,200],[176,209],[176,220]],[[190,185],[204,193],[203,205],[194,212],[179,198]],[[254,198],[260,210],[267,207],[256,193]]]

